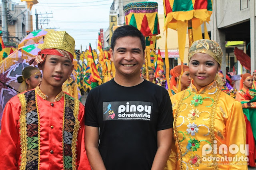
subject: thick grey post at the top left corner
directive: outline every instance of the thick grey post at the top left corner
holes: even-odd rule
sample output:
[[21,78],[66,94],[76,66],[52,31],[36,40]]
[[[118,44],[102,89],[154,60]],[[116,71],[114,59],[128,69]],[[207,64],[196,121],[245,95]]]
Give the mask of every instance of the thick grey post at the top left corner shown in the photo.
[[3,31],[3,41],[8,42],[8,24],[7,24],[7,2],[2,0],[2,31]]

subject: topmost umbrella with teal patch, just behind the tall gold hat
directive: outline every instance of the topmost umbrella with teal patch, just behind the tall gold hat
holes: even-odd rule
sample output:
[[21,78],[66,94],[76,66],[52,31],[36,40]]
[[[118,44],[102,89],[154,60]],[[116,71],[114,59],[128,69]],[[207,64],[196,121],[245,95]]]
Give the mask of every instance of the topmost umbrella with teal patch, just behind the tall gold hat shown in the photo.
[[55,31],[53,29],[43,29],[43,30],[36,30],[28,34],[18,45],[18,48],[23,47],[25,45],[35,44],[35,43],[44,43],[45,35],[50,32]]

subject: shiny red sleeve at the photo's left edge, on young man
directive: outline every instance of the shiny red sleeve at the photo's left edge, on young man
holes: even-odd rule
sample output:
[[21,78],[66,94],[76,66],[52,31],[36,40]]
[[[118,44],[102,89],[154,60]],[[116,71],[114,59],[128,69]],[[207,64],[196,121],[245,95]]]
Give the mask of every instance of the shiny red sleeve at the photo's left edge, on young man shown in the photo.
[[6,104],[2,117],[0,135],[0,170],[17,170],[20,148],[18,148],[20,103],[18,97]]

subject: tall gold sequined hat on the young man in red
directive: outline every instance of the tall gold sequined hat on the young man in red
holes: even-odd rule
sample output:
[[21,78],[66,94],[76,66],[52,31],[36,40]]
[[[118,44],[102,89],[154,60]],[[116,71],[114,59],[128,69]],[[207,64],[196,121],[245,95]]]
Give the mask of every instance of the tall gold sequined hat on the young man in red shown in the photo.
[[62,49],[74,55],[75,40],[66,31],[51,31],[44,38],[42,50],[47,48]]

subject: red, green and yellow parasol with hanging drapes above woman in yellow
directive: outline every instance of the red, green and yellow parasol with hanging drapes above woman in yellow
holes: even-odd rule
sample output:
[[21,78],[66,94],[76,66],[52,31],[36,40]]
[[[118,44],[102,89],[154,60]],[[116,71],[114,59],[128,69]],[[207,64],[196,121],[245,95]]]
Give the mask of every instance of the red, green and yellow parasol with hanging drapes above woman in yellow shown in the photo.
[[183,64],[187,30],[189,47],[194,41],[202,39],[202,23],[204,23],[204,38],[210,39],[205,22],[210,21],[212,0],[163,0],[163,2],[166,16],[164,23],[166,29],[165,58],[168,59],[167,28],[172,28],[178,31],[179,54]]

